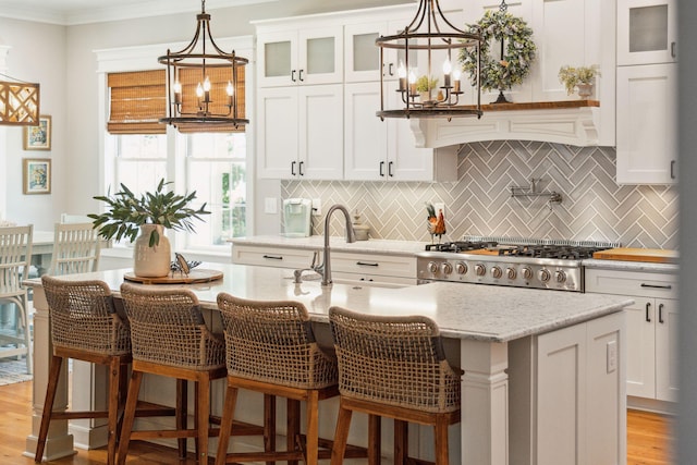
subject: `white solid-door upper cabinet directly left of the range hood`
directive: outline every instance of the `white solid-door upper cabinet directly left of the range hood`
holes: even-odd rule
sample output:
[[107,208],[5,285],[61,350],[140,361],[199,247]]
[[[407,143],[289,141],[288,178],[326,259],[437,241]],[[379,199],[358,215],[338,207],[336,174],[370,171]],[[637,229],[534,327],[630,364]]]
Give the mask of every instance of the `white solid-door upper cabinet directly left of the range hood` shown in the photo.
[[[398,98],[391,84],[388,91]],[[409,120],[376,117],[380,85],[344,87],[344,179],[355,181],[456,181],[456,147],[416,148]]]

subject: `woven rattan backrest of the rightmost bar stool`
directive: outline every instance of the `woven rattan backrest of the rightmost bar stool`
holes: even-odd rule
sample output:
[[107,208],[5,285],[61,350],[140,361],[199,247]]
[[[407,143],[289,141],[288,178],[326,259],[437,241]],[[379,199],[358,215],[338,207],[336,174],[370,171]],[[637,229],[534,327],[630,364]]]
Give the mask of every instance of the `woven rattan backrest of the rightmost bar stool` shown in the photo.
[[460,408],[460,376],[443,353],[436,322],[329,309],[339,392],[430,413]]

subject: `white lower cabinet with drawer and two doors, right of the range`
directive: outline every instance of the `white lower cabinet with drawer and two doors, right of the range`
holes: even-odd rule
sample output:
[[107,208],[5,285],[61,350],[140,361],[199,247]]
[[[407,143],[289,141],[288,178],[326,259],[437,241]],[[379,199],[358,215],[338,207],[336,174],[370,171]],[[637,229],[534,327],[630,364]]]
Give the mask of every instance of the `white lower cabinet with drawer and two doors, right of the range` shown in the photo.
[[672,274],[587,269],[586,291],[627,296],[628,395],[677,400],[677,284]]

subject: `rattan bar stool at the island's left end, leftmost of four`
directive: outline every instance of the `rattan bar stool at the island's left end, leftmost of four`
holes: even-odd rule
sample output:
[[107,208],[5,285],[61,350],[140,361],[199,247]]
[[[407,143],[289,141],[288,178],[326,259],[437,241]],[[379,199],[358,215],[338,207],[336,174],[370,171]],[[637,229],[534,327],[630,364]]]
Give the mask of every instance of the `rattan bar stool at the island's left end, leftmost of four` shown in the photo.
[[[107,462],[115,461],[119,418],[125,405],[126,367],[131,363],[129,321],[119,316],[109,286],[101,281],[70,281],[41,277],[50,310],[53,355],[49,368],[44,413],[39,427],[35,462],[42,460],[51,420],[107,418]],[[109,367],[107,411],[53,412],[63,359],[73,358]],[[148,405],[139,415],[173,415],[172,408]]]

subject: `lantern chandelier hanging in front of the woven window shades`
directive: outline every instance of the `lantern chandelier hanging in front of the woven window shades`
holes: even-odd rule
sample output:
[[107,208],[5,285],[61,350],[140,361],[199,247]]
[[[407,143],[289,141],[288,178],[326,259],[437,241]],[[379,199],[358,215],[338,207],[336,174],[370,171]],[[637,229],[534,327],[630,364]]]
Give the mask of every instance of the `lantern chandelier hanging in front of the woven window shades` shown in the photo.
[[237,108],[237,79],[249,60],[216,45],[206,0],[200,4],[192,41],[180,51],[168,49],[167,54],[158,58],[167,65],[168,102],[167,118],[159,121],[174,126],[247,124],[249,120]]

